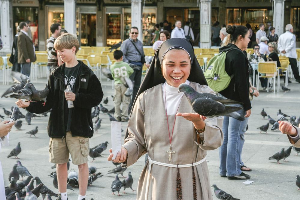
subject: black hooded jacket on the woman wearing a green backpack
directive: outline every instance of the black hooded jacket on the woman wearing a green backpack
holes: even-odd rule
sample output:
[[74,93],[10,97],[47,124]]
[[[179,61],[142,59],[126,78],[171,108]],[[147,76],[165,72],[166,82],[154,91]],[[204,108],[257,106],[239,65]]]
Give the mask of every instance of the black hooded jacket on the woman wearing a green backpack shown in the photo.
[[[235,49],[234,49],[235,48]],[[249,99],[249,61],[244,53],[234,44],[229,43],[227,46],[220,48],[220,52],[228,51],[225,59],[225,71],[228,76],[234,74],[229,86],[220,91],[224,97],[243,103],[246,110],[251,109]]]

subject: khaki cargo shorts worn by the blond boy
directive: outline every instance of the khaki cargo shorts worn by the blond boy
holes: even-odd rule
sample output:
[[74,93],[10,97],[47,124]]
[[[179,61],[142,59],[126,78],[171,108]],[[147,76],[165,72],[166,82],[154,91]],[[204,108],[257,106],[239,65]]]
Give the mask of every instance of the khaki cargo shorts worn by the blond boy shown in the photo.
[[71,131],[67,131],[66,137],[50,138],[49,154],[51,163],[67,163],[71,154],[72,163],[80,165],[87,163],[89,155],[89,138],[75,136],[72,137]]

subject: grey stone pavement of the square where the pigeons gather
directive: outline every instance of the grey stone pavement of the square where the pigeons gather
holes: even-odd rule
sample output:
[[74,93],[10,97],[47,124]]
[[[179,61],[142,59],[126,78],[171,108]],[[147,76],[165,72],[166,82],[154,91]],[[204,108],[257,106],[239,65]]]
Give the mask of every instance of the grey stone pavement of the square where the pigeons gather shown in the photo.
[[[2,74],[0,73],[2,78]],[[2,80],[0,79],[2,83]],[[47,79],[39,79],[34,82],[38,89],[42,89]],[[281,81],[283,84],[283,81]],[[207,160],[210,181],[211,184],[217,184],[217,186],[225,190],[226,192],[232,194],[235,198],[254,200],[254,199],[272,199],[272,200],[298,200],[300,196],[300,190],[297,190],[295,185],[296,175],[300,174],[300,155],[295,156],[295,151],[292,150],[290,157],[286,160],[288,162],[280,161],[280,165],[277,164],[276,160],[268,160],[268,157],[272,156],[274,153],[279,151],[281,148],[288,148],[290,146],[288,139],[285,135],[281,134],[278,130],[271,131],[271,127],[268,134],[259,133],[257,127],[267,123],[267,120],[262,120],[260,112],[262,108],[271,115],[272,118],[276,119],[276,113],[278,109],[288,115],[296,115],[299,117],[300,109],[300,84],[295,83],[292,80],[292,84],[289,84],[288,88],[291,89],[290,92],[280,92],[277,94],[267,93],[261,91],[260,96],[252,101],[252,114],[250,116],[248,125],[249,129],[245,134],[245,144],[242,154],[242,159],[246,166],[252,168],[252,172],[248,174],[251,175],[252,181],[250,185],[244,185],[244,181],[234,181],[228,180],[227,178],[221,178],[219,176],[219,153],[218,150],[208,151]],[[113,95],[113,90],[111,88],[111,81],[102,81],[102,87],[104,90],[104,97],[108,97],[108,109],[113,108],[113,101],[110,97]],[[0,94],[2,94],[8,88],[7,85],[0,85]],[[14,105],[14,99],[2,98],[0,99],[0,114],[4,115],[2,107],[9,109]],[[21,109],[21,112],[25,115],[25,110]],[[49,115],[48,115],[49,116]],[[107,115],[100,114],[102,118],[101,128],[98,133],[94,133],[94,136],[90,139],[90,146],[93,147],[104,141],[111,141],[111,126]],[[22,130],[16,130],[14,127],[10,135],[10,145],[8,147],[2,147],[0,153],[0,160],[2,162],[2,168],[5,178],[5,186],[8,186],[8,173],[11,171],[12,166],[16,163],[17,159],[7,158],[10,151],[21,142],[22,152],[19,154],[19,160],[24,166],[27,167],[29,172],[35,177],[41,178],[41,181],[50,189],[58,192],[52,185],[53,178],[49,177],[52,163],[49,163],[49,137],[47,135],[46,127],[48,117],[41,116],[41,118],[32,119],[32,125],[27,125],[26,121],[22,119],[23,126]],[[123,130],[126,129],[127,123],[122,123]],[[32,130],[35,126],[38,126],[38,133],[36,138],[25,134],[27,131]],[[124,134],[124,133],[123,133]],[[108,149],[111,147],[108,144]],[[126,189],[126,194],[122,196],[111,195],[111,182],[114,180],[113,174],[108,174],[108,170],[113,169],[114,165],[107,161],[108,150],[105,150],[102,154],[103,157],[96,158],[94,162],[89,157],[89,166],[97,167],[97,172],[102,172],[103,177],[98,178],[92,186],[88,187],[86,199],[94,198],[97,199],[135,199],[136,191],[133,192],[130,189]],[[144,167],[144,156],[138,160],[133,166],[130,166],[125,172],[124,176],[127,176],[128,172],[132,172],[134,179],[133,189],[137,189],[138,177]],[[71,164],[70,170],[75,170],[78,172],[77,166]],[[120,180],[123,178],[119,175]],[[75,191],[68,190],[68,198],[70,200],[76,200],[78,195],[78,189]],[[213,191],[213,190],[212,190]],[[39,197],[38,199],[41,199]],[[54,198],[53,198],[54,199]],[[162,197],[162,199],[167,199]],[[213,193],[213,199],[217,199]]]

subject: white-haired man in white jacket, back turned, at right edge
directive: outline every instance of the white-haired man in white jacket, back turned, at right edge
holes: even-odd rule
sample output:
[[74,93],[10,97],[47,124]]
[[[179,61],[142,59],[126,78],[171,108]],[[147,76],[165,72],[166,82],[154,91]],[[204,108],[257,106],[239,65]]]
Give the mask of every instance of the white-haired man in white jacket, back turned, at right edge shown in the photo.
[[281,34],[278,39],[278,50],[289,58],[289,63],[298,83],[300,83],[300,76],[297,67],[297,52],[296,52],[296,36],[293,34],[294,28],[291,24],[286,25],[286,32]]

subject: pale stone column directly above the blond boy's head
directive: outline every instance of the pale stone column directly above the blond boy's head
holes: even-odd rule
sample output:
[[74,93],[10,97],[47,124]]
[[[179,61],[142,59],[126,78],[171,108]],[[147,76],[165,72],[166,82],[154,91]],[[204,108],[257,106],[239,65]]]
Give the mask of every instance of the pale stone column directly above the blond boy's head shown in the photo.
[[76,34],[76,0],[64,0],[65,29]]

